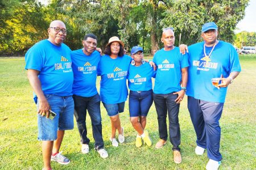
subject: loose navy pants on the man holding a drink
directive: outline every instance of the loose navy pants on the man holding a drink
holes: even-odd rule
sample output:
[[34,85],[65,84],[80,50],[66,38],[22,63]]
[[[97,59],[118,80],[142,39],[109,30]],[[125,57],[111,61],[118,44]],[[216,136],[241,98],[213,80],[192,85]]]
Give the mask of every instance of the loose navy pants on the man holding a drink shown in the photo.
[[224,103],[215,103],[188,96],[188,111],[196,131],[197,146],[207,148],[209,159],[221,161],[220,137],[221,118]]

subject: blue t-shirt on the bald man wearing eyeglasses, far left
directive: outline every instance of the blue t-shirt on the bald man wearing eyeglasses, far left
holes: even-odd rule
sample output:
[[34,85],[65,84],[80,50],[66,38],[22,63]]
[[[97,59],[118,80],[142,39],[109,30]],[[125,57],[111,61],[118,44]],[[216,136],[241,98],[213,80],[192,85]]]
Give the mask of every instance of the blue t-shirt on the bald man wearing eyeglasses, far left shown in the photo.
[[25,69],[40,71],[38,78],[44,94],[72,95],[71,49],[67,45],[39,41],[27,51],[25,61]]

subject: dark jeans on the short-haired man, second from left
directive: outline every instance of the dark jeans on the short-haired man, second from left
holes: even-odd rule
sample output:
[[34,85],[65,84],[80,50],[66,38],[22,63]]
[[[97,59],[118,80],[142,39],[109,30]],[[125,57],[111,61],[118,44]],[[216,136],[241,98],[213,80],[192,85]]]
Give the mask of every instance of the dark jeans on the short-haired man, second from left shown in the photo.
[[82,144],[89,144],[90,139],[87,137],[86,129],[86,110],[90,115],[92,121],[93,138],[95,141],[94,148],[99,150],[104,147],[102,139],[102,125],[101,125],[101,110],[100,110],[100,96],[98,94],[91,97],[82,97],[73,95],[75,102],[75,117],[77,128],[81,137]]

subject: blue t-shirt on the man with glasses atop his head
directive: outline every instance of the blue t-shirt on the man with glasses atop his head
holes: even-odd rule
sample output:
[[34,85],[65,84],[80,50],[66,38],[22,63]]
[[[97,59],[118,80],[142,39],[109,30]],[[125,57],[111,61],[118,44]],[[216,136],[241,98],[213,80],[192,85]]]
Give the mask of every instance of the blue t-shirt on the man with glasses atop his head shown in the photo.
[[181,90],[181,69],[188,67],[187,54],[181,54],[175,47],[166,51],[164,48],[155,53],[153,62],[158,67],[155,75],[155,94],[169,94]]

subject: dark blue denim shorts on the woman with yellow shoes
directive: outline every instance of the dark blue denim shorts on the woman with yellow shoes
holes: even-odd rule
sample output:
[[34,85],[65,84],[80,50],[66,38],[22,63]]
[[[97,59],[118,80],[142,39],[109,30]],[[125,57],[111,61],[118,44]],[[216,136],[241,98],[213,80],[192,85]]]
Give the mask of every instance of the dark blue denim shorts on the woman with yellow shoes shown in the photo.
[[152,90],[131,91],[129,94],[130,117],[147,116],[153,103]]

